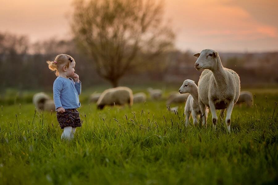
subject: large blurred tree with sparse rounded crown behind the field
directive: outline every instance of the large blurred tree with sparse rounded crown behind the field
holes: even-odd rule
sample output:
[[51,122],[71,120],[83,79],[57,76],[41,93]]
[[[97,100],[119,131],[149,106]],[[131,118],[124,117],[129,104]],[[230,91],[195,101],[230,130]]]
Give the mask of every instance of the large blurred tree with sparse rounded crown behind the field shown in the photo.
[[136,67],[137,53],[154,58],[174,39],[163,24],[163,2],[155,0],[77,0],[71,26],[79,48],[114,87]]

